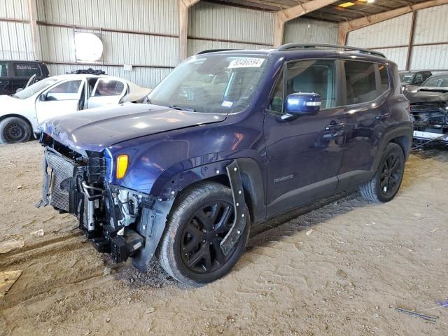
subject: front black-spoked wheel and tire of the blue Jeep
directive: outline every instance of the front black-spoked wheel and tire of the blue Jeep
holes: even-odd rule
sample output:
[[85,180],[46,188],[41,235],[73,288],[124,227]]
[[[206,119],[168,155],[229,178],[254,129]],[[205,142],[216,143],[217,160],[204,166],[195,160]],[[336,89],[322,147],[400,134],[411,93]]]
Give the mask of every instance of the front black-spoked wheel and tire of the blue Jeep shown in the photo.
[[174,279],[189,286],[215,281],[237,263],[248,239],[246,228],[225,256],[220,243],[232,227],[235,216],[232,190],[220,183],[203,182],[186,190],[169,216],[158,256]]

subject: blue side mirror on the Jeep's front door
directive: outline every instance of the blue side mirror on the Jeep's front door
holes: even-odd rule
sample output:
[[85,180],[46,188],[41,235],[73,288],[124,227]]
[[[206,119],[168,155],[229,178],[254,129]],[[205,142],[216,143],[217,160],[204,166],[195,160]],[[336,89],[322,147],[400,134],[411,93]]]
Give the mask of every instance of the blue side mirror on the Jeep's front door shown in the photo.
[[300,116],[314,116],[321,110],[321,96],[317,93],[292,93],[286,97],[283,120]]

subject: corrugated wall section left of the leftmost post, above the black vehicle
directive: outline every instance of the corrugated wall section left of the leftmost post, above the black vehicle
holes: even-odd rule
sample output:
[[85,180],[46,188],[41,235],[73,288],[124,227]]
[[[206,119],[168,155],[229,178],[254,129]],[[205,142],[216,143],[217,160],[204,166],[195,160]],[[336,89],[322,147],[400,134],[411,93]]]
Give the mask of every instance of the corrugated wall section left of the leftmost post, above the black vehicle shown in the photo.
[[33,59],[27,0],[0,0],[0,59]]

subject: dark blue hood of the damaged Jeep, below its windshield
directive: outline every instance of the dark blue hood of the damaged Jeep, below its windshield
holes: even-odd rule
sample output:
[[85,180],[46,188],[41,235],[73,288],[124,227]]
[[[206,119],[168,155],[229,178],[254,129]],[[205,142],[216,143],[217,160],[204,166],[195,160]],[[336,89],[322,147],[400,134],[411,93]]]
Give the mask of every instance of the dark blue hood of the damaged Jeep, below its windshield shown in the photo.
[[90,109],[69,118],[53,118],[38,130],[73,149],[101,152],[104,148],[146,135],[217,123],[225,114],[179,111],[150,104],[120,104]]

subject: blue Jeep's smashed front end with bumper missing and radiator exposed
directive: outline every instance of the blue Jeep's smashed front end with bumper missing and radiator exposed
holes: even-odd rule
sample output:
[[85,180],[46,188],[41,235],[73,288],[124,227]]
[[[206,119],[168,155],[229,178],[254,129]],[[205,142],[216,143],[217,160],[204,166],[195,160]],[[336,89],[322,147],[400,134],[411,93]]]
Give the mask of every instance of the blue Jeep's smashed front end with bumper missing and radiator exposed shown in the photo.
[[146,271],[173,200],[157,199],[107,182],[107,158],[94,151],[73,151],[41,135],[45,146],[42,200],[60,213],[78,218],[81,230],[102,253],[115,262],[132,257]]

